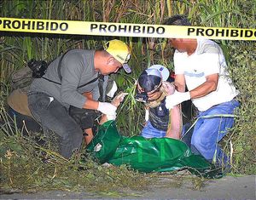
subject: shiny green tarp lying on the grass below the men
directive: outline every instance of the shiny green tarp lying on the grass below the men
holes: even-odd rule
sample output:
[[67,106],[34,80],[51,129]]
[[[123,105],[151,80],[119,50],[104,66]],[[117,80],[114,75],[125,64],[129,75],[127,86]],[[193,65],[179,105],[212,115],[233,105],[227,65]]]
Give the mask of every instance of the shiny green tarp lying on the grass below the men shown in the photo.
[[[193,155],[181,140],[170,138],[144,139],[119,134],[114,121],[102,124],[86,151],[100,163],[126,164],[141,172],[164,172],[189,169],[194,174],[216,176],[204,157]],[[218,176],[218,175],[217,175]]]

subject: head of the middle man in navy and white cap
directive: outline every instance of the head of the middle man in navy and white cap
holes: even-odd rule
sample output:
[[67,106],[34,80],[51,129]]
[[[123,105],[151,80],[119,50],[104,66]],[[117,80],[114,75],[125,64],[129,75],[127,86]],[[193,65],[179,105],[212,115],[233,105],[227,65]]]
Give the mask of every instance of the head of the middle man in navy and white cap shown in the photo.
[[169,77],[169,71],[165,66],[154,65],[144,70],[137,79],[138,101],[157,100],[160,97],[160,86],[162,81]]

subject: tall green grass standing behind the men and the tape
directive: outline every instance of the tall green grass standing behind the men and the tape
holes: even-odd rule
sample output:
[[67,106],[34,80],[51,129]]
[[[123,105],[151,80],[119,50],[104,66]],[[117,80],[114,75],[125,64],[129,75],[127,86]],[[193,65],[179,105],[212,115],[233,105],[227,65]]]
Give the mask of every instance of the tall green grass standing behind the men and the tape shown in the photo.
[[[254,0],[3,0],[0,4],[1,16],[51,19],[51,20],[89,20],[121,23],[161,24],[173,14],[186,14],[197,26],[224,26],[255,28]],[[9,77],[12,72],[26,65],[31,58],[52,60],[67,49],[96,49],[113,37],[88,36],[54,36],[48,34],[14,34],[2,33],[0,37],[0,70],[1,99],[9,94]],[[139,134],[143,128],[143,105],[134,98],[134,83],[143,69],[156,63],[173,68],[172,49],[157,38],[119,37],[129,43],[132,54],[131,75],[119,71],[112,75],[118,83],[119,90],[129,92],[117,119],[120,131],[125,135]],[[234,165],[242,173],[255,173],[250,152],[255,150],[249,146],[255,137],[255,91],[251,83],[255,83],[253,66],[254,42],[217,41],[224,49],[230,66],[230,73],[236,79],[236,87],[241,92],[240,117],[236,126],[227,137],[226,151],[230,152],[230,141],[234,143]],[[246,61],[245,61],[246,60]],[[254,67],[254,68],[253,68]],[[249,70],[250,69],[250,70]],[[248,83],[248,80],[250,82]],[[4,87],[3,87],[4,85]],[[247,120],[249,121],[247,121]],[[247,144],[243,148],[243,144]],[[243,156],[244,155],[244,156]],[[247,163],[243,165],[242,163]],[[248,167],[247,167],[248,166]]]

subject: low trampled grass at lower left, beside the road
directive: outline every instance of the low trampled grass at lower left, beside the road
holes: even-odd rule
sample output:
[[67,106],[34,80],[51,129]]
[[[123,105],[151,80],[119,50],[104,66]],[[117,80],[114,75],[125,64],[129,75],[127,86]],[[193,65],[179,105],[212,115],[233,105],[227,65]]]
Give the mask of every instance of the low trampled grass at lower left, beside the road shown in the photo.
[[[100,166],[80,154],[67,161],[20,134],[5,139],[1,135],[0,145],[2,191],[119,191],[122,195],[129,189],[142,190],[149,182],[150,175],[125,166]],[[80,162],[81,158],[86,162]]]

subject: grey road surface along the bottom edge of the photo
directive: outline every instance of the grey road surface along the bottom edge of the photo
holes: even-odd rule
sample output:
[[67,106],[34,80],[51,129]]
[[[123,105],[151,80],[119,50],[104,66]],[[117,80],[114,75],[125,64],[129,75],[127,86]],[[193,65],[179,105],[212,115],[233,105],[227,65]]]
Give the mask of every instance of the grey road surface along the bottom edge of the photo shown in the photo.
[[129,195],[112,192],[41,191],[2,193],[0,199],[256,199],[255,178],[255,175],[224,176],[218,180],[205,180],[202,186],[196,188],[196,184],[191,181],[183,180],[177,185],[177,181],[163,176],[155,185],[148,186],[144,191],[127,191]]

